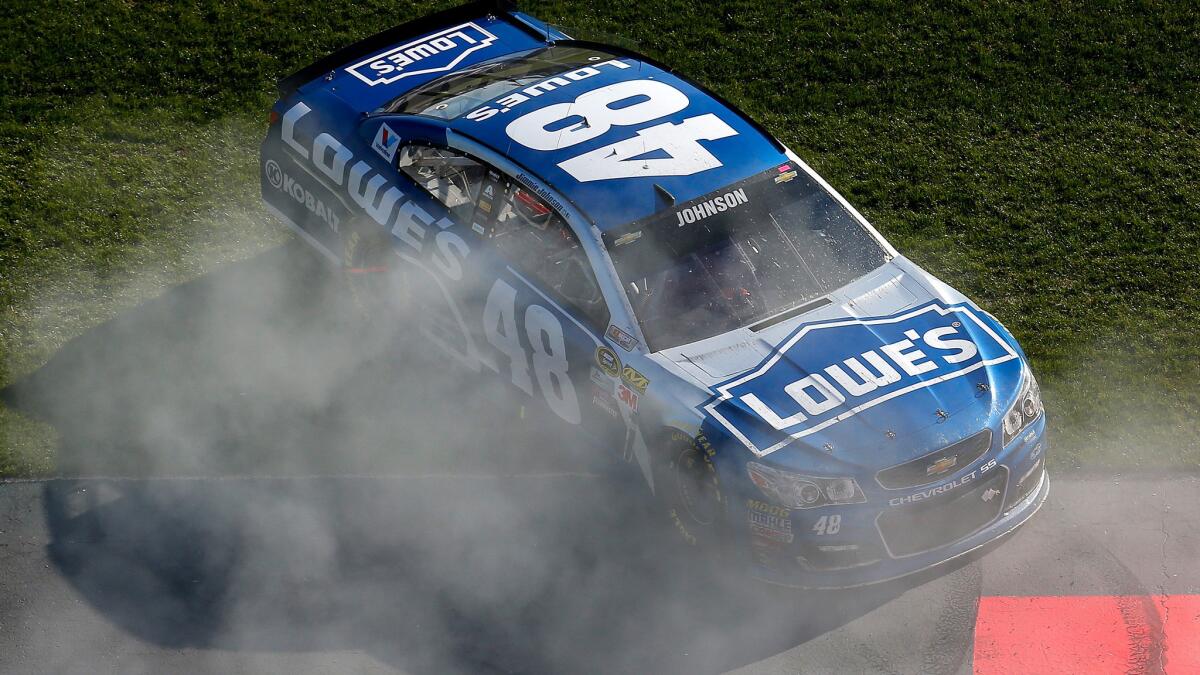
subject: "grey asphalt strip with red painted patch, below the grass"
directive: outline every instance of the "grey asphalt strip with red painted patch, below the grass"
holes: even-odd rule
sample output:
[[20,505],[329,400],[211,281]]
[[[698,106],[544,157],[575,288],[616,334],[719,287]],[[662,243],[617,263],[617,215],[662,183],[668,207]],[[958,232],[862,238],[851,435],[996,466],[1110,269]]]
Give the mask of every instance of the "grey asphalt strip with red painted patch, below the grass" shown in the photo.
[[[608,583],[502,590],[456,608],[462,589],[430,587],[438,574],[420,557],[437,545],[427,537],[505,540],[504,522],[439,514],[484,508],[470,501],[480,483],[532,506],[564,492],[602,500],[589,476],[5,484],[0,671],[1200,671],[1193,476],[1060,477],[1036,519],[985,555],[842,592],[713,583],[710,571],[680,571],[686,552],[646,555],[648,542],[605,531],[619,522],[550,519],[545,540],[520,526],[511,536],[527,550],[572,548],[578,567],[613,556],[619,574],[560,568]],[[312,522],[296,522],[298,500],[338,533],[337,566],[306,562]],[[414,534],[426,519],[442,526]],[[460,563],[484,586],[508,578]]]

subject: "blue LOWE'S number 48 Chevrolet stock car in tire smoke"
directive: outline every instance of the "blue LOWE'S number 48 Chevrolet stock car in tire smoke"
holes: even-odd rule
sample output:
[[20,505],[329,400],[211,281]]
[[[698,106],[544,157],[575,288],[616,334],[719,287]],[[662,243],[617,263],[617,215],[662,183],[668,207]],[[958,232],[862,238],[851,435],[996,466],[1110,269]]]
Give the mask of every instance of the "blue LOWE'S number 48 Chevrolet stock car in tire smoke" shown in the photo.
[[269,210],[364,295],[407,293],[463,372],[624,458],[686,542],[852,586],[1045,500],[1013,336],[670,67],[492,1],[280,90]]

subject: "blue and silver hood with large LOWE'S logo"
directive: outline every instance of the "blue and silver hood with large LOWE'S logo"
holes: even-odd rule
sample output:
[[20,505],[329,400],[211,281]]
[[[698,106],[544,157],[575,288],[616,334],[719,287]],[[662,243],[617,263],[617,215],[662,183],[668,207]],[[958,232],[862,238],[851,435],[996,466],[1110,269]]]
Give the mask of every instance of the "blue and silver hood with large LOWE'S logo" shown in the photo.
[[664,356],[706,387],[707,432],[769,464],[881,468],[995,426],[1024,358],[986,312],[898,258],[828,304]]

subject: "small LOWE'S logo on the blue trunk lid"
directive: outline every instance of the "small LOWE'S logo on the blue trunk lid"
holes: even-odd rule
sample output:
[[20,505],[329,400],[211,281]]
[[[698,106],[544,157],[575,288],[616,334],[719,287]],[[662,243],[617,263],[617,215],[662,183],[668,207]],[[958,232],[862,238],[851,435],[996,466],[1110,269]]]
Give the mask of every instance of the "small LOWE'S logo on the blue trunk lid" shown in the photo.
[[445,72],[462,62],[473,52],[496,42],[496,36],[474,23],[464,23],[420,40],[392,47],[346,68],[346,72],[371,86],[418,74]]

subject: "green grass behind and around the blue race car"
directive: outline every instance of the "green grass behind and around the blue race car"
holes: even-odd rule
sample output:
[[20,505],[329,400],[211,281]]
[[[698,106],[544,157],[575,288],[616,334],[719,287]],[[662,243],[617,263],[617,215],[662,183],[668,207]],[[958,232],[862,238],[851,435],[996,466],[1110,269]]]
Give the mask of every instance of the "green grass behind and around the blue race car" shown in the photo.
[[[440,4],[439,6],[444,6]],[[997,315],[1058,467],[1200,465],[1200,10],[1180,2],[527,2],[619,35],[788,143]],[[424,4],[10,2],[0,386],[286,238],[257,197],[276,77]],[[0,410],[0,476],[54,472]]]

